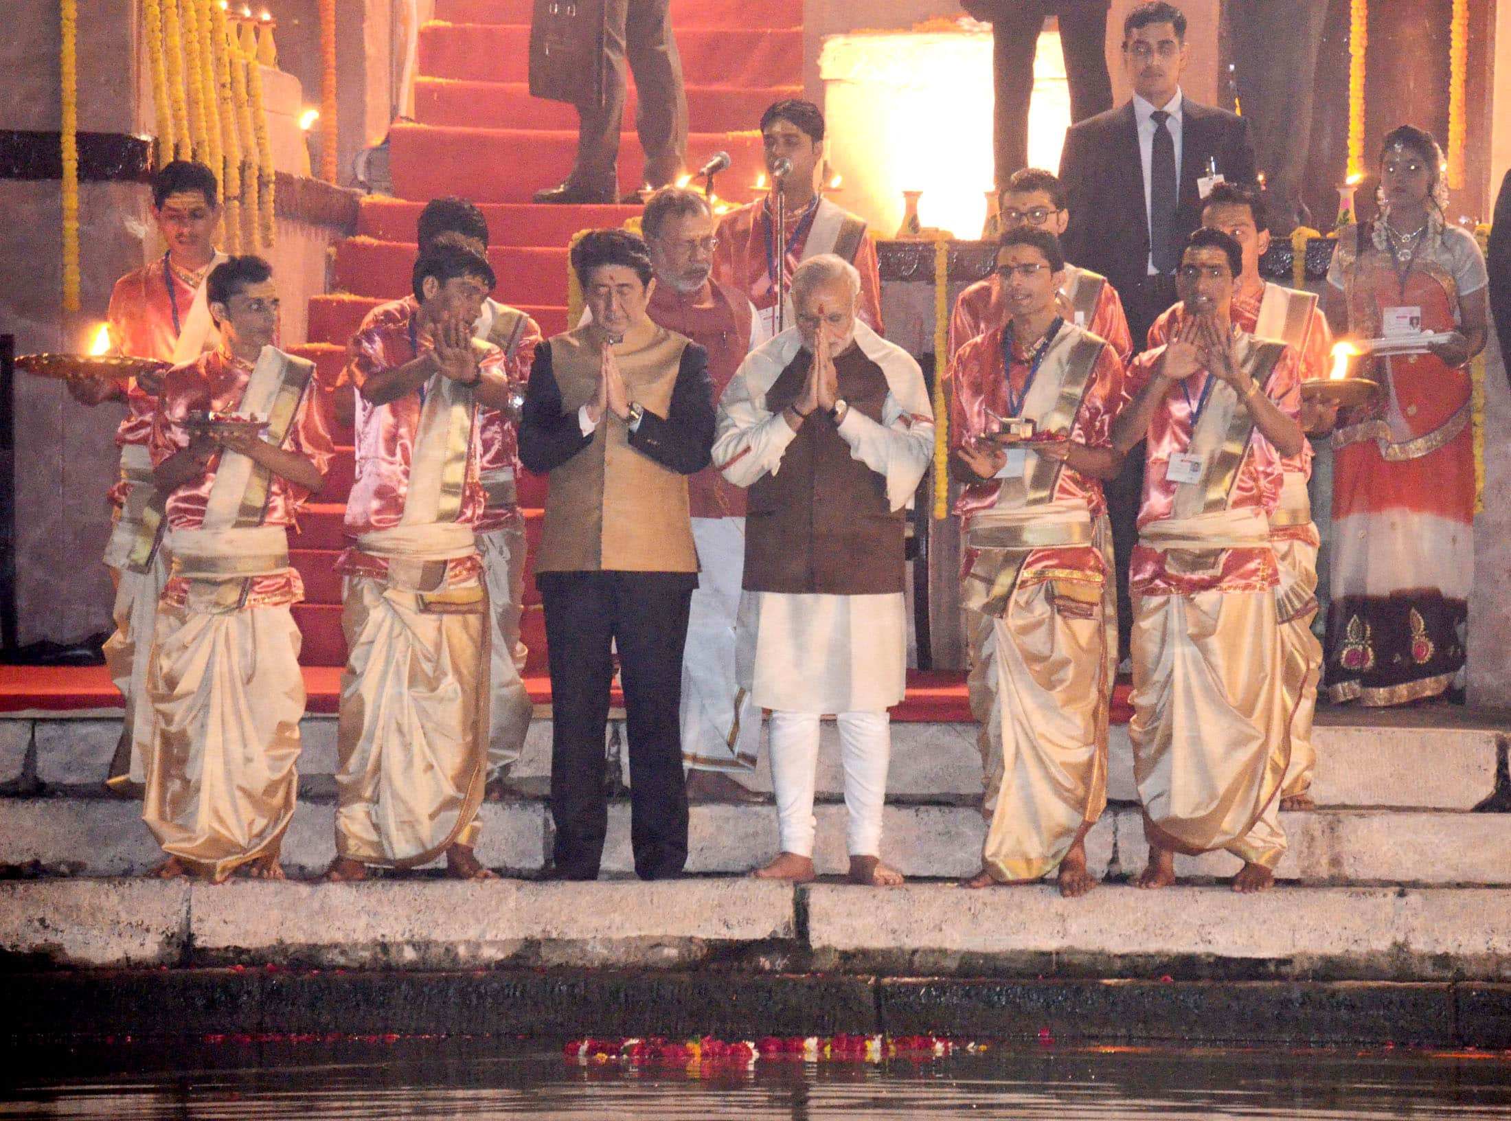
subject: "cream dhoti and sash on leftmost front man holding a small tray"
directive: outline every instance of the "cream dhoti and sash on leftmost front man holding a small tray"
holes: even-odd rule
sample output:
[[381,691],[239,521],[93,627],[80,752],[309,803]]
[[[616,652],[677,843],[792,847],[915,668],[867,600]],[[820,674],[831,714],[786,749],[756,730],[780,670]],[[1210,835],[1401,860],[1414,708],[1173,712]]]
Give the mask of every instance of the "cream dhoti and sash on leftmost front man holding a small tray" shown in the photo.
[[187,591],[157,610],[142,819],[165,852],[221,881],[277,858],[293,819],[299,628],[289,603],[243,603],[254,577],[289,571],[289,548],[283,526],[175,529],[168,547]]

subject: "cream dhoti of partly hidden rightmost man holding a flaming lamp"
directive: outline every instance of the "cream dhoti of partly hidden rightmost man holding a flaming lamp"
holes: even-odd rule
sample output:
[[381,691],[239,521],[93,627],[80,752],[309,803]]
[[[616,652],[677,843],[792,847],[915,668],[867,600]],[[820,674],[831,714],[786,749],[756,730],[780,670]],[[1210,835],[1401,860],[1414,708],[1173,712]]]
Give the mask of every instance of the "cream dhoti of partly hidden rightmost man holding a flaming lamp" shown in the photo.
[[1269,520],[1269,544],[1280,567],[1275,589],[1280,647],[1284,659],[1286,707],[1290,710],[1290,766],[1281,795],[1290,798],[1312,789],[1318,752],[1312,746],[1312,719],[1322,680],[1322,644],[1312,632],[1318,616],[1318,548],[1322,539],[1312,524],[1307,479],[1286,471],[1280,509]]

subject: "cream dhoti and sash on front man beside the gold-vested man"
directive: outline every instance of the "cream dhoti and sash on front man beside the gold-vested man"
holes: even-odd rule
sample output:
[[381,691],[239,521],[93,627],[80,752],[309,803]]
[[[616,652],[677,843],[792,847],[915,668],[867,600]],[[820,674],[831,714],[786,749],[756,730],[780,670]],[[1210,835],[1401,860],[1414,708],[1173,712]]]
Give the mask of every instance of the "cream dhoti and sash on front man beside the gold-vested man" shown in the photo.
[[357,548],[387,576],[345,583],[335,846],[363,864],[411,867],[476,840],[488,597],[447,564],[476,554],[471,526],[397,526]]

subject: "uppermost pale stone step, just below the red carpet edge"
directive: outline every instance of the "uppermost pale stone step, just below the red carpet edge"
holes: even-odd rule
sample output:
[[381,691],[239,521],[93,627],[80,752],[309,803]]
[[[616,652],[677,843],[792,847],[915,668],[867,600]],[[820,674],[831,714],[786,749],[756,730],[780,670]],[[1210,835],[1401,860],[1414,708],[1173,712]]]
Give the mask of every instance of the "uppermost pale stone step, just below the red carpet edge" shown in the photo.
[[[0,721],[0,783],[20,774],[26,733]],[[335,770],[335,719],[307,718],[301,725],[304,754],[299,774]],[[56,786],[97,784],[115,752],[119,724],[109,719],[48,719],[36,722],[38,777]],[[1494,792],[1497,754],[1505,734],[1488,727],[1401,727],[1319,724],[1315,731],[1318,769],[1313,796],[1318,805],[1411,807],[1469,810]],[[552,725],[536,721],[515,767],[520,780],[550,775]],[[1431,764],[1428,764],[1431,760]],[[771,764],[765,748],[749,786],[771,792]],[[843,790],[839,736],[823,724],[817,789]],[[893,798],[979,798],[981,754],[975,724],[893,724],[887,792]],[[1109,742],[1108,796],[1138,801],[1133,787],[1133,752],[1127,727],[1114,725]]]

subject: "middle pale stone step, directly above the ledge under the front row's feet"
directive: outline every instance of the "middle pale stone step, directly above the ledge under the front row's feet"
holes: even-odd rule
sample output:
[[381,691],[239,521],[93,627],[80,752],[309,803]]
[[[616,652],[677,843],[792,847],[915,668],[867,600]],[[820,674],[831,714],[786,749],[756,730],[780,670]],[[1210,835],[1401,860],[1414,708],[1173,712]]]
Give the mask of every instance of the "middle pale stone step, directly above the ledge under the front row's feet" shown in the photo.
[[[845,805],[819,802],[814,864],[820,875],[846,867]],[[1307,884],[1511,885],[1511,814],[1445,810],[1316,810],[1283,813],[1289,848],[1277,869]],[[477,857],[514,875],[539,872],[550,852],[550,814],[541,799],[485,804]],[[335,855],[332,799],[304,799],[284,838],[289,875],[308,878]],[[978,870],[985,825],[967,805],[890,804],[882,857],[910,878],[958,878]],[[1086,837],[1097,876],[1144,867],[1139,811],[1114,805]],[[777,855],[775,810],[766,805],[695,805],[688,872],[742,873]],[[162,860],[141,822],[141,804],[115,798],[0,798],[0,869],[35,875],[141,875]],[[1180,857],[1177,873],[1224,878],[1239,861],[1224,852]],[[630,807],[609,807],[604,873],[630,873]]]

